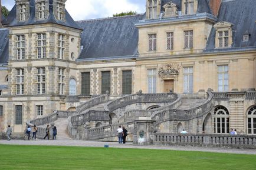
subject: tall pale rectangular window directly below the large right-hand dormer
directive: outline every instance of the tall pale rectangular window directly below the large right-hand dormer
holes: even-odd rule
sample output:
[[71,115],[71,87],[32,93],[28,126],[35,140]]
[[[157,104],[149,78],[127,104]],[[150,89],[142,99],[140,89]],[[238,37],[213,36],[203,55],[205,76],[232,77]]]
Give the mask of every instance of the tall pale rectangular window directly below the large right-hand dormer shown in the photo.
[[218,66],[218,91],[228,91],[228,65]]

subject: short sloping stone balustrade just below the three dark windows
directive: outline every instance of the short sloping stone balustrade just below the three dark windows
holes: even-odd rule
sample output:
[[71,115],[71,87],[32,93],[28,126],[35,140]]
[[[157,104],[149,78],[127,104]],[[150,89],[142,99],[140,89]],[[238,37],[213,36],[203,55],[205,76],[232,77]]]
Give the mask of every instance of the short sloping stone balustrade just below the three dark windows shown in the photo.
[[79,105],[77,107],[77,112],[78,114],[83,114],[86,109],[107,101],[109,101],[109,94],[97,96],[96,98],[90,99],[90,101],[84,102],[84,104]]

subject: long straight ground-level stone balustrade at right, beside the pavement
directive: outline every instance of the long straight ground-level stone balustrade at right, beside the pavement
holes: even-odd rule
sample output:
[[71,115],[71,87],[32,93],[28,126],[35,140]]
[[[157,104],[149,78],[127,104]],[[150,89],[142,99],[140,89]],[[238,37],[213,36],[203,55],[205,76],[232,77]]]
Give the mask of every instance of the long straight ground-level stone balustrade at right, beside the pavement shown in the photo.
[[227,146],[256,148],[256,136],[219,134],[160,134],[152,135],[153,145]]

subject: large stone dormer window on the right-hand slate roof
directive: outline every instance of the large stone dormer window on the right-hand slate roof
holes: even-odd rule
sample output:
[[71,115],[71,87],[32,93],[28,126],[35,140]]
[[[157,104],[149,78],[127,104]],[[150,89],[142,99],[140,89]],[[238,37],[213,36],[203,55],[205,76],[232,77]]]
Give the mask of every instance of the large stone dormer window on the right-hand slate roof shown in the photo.
[[218,22],[214,25],[216,30],[215,48],[229,48],[232,46],[232,24],[229,22]]

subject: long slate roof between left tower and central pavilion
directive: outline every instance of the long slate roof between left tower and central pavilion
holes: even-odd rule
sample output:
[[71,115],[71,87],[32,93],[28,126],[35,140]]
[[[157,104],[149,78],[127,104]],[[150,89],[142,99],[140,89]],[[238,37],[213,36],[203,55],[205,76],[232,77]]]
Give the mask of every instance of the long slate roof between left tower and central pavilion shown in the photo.
[[77,21],[84,29],[81,35],[83,50],[78,59],[136,56],[139,33],[134,26],[145,15]]

